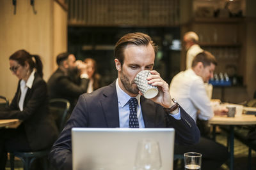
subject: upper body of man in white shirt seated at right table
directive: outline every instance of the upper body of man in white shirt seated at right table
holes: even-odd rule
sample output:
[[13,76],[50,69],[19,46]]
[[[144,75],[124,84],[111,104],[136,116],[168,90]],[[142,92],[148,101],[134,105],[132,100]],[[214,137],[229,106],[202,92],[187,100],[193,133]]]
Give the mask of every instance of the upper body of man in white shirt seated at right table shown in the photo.
[[174,76],[170,84],[170,93],[195,122],[197,118],[209,120],[214,114],[227,113],[226,108],[212,108],[205,91],[204,83],[213,76],[216,65],[217,61],[211,53],[198,53],[192,62],[192,68]]

